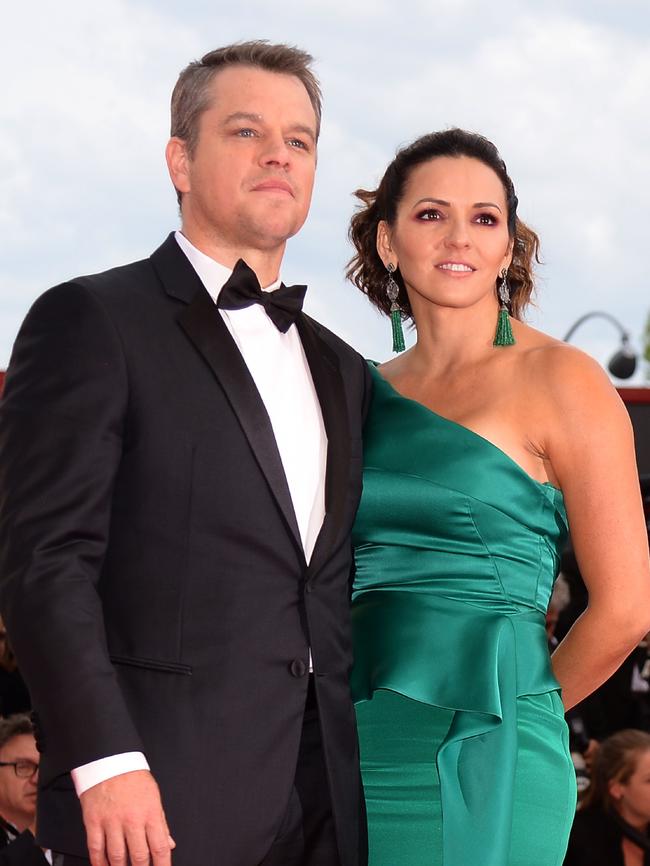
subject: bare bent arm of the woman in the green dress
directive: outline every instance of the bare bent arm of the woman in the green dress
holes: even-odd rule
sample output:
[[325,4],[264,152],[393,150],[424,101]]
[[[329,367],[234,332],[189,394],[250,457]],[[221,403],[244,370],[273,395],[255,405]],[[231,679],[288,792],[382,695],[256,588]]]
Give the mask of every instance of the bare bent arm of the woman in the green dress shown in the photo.
[[552,657],[568,709],[608,679],[650,630],[650,558],[624,405],[591,358],[566,346],[545,355],[543,447],[564,493],[589,593],[587,610]]

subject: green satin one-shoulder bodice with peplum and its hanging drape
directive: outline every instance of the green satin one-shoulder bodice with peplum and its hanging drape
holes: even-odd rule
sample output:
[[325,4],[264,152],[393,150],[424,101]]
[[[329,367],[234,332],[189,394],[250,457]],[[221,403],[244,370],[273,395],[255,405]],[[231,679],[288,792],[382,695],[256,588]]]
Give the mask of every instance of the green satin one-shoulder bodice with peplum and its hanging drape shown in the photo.
[[505,866],[517,700],[558,689],[544,615],[566,539],[562,493],[372,369],[353,694],[389,689],[454,711],[437,760],[444,864]]

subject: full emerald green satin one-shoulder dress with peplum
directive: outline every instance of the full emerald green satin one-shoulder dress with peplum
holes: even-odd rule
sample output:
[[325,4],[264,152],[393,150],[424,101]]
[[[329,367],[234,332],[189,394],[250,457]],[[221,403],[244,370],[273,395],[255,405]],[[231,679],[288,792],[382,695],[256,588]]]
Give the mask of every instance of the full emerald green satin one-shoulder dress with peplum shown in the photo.
[[370,866],[560,866],[562,493],[372,370],[352,603]]

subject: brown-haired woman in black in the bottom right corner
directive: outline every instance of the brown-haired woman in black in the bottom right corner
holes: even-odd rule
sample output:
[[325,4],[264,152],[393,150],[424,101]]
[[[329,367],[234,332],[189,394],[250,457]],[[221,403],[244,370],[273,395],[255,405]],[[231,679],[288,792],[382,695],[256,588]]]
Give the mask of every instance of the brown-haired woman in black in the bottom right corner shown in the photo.
[[650,734],[613,734],[595,756],[564,866],[650,866]]

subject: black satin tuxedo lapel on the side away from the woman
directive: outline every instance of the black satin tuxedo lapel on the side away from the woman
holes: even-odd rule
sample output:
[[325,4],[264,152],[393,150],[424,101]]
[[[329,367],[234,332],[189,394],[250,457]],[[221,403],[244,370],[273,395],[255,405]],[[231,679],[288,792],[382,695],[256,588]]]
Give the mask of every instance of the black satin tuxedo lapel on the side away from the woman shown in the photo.
[[284,515],[294,542],[304,556],[289,485],[271,421],[246,362],[203,284],[178,316],[178,322],[221,383]]

